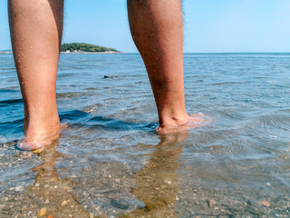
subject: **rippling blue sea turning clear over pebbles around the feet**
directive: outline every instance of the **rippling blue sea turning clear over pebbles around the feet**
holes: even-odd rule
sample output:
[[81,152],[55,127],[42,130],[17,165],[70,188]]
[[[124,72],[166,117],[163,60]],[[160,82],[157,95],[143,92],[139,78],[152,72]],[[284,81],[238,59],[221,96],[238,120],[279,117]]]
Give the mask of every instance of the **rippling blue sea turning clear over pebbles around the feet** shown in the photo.
[[211,122],[160,136],[140,54],[61,54],[68,128],[34,154],[0,54],[0,217],[290,217],[290,54],[185,54],[184,77]]

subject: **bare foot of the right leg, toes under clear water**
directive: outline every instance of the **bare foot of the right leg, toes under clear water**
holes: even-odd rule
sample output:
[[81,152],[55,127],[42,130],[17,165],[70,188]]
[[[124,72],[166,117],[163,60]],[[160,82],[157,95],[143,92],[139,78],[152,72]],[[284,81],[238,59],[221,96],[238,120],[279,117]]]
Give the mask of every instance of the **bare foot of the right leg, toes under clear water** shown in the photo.
[[210,120],[202,113],[190,114],[189,119],[184,124],[160,124],[157,128],[158,134],[174,134],[178,132],[187,131],[208,124]]

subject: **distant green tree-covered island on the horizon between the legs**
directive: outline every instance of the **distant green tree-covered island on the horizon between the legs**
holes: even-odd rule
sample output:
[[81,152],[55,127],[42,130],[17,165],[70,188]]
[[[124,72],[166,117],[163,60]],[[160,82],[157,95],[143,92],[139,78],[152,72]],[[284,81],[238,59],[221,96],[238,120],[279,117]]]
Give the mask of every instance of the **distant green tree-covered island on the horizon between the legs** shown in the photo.
[[66,51],[78,51],[78,52],[118,52],[114,48],[102,47],[99,45],[84,44],[84,43],[72,43],[63,44],[61,47],[61,52]]

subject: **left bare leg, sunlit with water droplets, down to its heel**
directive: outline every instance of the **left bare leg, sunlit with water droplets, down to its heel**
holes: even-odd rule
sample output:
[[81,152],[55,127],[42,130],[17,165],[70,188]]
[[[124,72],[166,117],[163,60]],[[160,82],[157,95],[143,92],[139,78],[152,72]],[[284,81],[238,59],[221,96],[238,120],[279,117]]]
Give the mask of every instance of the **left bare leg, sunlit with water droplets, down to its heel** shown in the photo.
[[24,99],[24,136],[34,150],[60,130],[55,85],[63,32],[63,0],[9,0],[14,62]]

